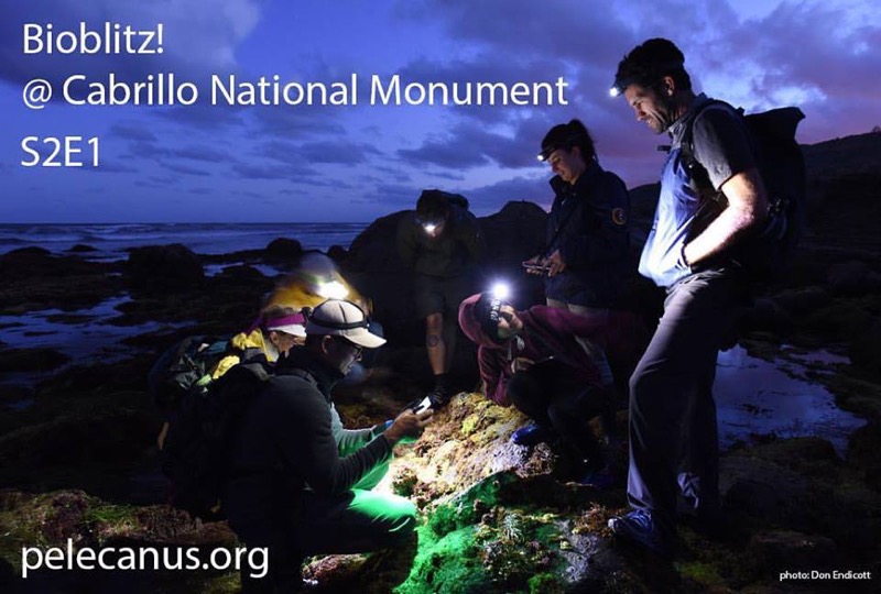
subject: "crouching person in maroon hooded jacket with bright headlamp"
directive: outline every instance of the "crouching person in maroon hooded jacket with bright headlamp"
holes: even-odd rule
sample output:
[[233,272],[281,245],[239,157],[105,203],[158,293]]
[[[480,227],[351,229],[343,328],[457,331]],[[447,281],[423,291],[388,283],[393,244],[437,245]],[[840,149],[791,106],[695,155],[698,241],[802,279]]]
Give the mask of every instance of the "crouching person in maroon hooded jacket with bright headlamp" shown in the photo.
[[[516,311],[483,293],[461,302],[459,326],[478,344],[487,397],[501,406],[513,404],[535,421],[515,431],[514,442],[530,446],[558,436],[584,460],[583,484],[610,486],[611,469],[601,442],[614,422],[613,394],[580,339],[632,366],[645,336],[639,318],[630,311],[590,316],[546,306]],[[598,416],[603,432],[599,439],[588,426]]]

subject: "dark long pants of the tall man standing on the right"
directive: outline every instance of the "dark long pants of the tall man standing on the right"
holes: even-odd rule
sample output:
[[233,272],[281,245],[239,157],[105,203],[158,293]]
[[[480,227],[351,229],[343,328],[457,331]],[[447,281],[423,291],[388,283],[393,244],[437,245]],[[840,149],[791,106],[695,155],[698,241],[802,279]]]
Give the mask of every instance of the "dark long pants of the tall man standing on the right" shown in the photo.
[[677,483],[698,515],[719,508],[719,450],[713,382],[742,283],[708,271],[674,285],[630,380],[628,501],[672,534]]

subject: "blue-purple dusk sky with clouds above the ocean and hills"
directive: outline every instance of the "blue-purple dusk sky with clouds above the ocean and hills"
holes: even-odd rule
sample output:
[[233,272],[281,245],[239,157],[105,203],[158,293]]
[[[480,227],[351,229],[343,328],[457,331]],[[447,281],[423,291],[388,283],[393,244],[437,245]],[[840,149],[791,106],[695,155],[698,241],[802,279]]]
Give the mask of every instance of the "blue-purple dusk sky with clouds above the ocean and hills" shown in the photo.
[[[654,182],[663,160],[655,146],[664,139],[608,92],[621,57],[654,36],[679,45],[698,91],[748,111],[800,106],[807,116],[802,143],[881,125],[881,11],[870,0],[0,7],[2,222],[367,222],[413,208],[431,187],[464,194],[481,216],[509,200],[547,206],[550,173],[535,154],[545,132],[572,118],[587,124],[601,164],[629,187]],[[96,32],[85,44],[80,23]],[[121,43],[107,46],[105,29],[112,42],[116,25],[132,34],[128,44],[116,35]],[[160,29],[161,44],[150,38]],[[100,53],[80,53],[96,38]],[[172,76],[175,100],[192,105],[159,105],[159,80],[167,98]],[[218,90],[230,77],[235,92]],[[322,85],[326,105],[318,94],[312,106],[249,95],[261,77],[287,86],[292,103],[298,88]],[[31,109],[23,92],[28,86],[33,94],[29,82],[37,78],[53,97]],[[141,84],[141,105],[90,105],[109,102],[111,79],[117,97]],[[357,95],[349,92],[352,79]],[[383,105],[394,80],[402,105]],[[450,98],[432,106],[418,92],[454,84],[497,84],[497,100],[503,88],[525,105],[477,105],[481,95],[474,91],[471,105]],[[554,92],[533,97],[534,88]],[[22,142],[32,136],[25,151]],[[83,166],[43,166],[56,142],[46,139],[61,139],[63,148],[65,136],[83,139],[69,141],[80,152],[68,155]],[[64,160],[59,152],[53,162]]]

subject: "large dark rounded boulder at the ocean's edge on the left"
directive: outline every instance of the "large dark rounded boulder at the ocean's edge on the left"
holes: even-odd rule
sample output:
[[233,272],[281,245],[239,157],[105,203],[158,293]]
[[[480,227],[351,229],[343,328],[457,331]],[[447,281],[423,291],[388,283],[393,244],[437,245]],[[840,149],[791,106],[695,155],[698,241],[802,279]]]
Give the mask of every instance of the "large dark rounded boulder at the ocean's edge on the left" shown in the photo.
[[205,279],[202,260],[181,243],[134,248],[126,274],[132,286],[144,290],[188,288]]

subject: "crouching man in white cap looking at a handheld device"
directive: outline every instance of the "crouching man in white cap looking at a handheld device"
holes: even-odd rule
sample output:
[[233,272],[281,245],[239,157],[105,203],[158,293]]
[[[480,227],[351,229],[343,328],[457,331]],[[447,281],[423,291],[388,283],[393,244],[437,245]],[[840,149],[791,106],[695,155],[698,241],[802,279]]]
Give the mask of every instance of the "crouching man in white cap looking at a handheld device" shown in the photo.
[[[334,384],[363,349],[383,344],[363,311],[327,300],[306,324],[306,344],[279,360],[275,375],[243,418],[224,501],[229,525],[251,548],[269,550],[269,572],[242,571],[243,592],[293,592],[305,556],[399,548],[415,554],[416,508],[373,493],[392,448],[422,432],[431,411],[402,413],[372,429],[342,428]],[[400,565],[400,563],[399,563]]]

